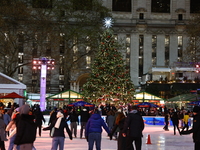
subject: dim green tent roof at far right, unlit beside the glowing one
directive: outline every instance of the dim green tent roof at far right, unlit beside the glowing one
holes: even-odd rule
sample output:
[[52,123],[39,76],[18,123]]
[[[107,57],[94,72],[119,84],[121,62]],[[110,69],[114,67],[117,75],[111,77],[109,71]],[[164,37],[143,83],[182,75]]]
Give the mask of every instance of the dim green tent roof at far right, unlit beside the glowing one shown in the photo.
[[167,99],[166,101],[196,101],[196,94],[182,94],[172,98]]

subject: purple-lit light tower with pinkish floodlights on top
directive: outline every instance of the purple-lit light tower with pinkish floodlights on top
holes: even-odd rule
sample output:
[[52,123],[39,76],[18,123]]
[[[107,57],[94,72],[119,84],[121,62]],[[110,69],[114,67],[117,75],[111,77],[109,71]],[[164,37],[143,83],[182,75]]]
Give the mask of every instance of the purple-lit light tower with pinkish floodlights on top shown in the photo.
[[47,70],[54,69],[54,59],[46,57],[34,58],[33,69],[41,70],[40,74],[40,109],[45,110],[45,99],[46,99],[46,76]]

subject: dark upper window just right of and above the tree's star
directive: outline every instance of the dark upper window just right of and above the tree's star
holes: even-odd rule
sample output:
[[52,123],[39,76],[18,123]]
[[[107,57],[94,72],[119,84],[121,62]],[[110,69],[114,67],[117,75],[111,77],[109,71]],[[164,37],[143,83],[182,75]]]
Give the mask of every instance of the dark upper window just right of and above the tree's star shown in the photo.
[[113,0],[112,11],[131,12],[131,0]]

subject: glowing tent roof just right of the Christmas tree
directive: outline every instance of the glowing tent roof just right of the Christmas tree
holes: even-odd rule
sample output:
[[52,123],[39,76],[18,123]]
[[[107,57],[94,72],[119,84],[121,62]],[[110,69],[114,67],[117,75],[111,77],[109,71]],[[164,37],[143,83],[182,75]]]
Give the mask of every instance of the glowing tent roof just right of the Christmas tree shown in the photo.
[[160,98],[148,92],[138,92],[134,96],[135,100],[164,100],[163,98]]

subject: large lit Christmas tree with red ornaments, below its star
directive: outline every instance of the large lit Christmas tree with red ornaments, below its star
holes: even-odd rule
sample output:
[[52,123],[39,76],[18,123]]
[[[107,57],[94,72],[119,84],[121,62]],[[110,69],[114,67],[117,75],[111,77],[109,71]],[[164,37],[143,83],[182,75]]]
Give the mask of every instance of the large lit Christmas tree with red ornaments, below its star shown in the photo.
[[101,35],[99,51],[91,66],[90,77],[83,85],[86,101],[94,104],[102,101],[127,104],[133,100],[134,85],[117,48],[119,43],[113,31],[106,29]]

